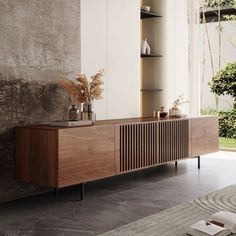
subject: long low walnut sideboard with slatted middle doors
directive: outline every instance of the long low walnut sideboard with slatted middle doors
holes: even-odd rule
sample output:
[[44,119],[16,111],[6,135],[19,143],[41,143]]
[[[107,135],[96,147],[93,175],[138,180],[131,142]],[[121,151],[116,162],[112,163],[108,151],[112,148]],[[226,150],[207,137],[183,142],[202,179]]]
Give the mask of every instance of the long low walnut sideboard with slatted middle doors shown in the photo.
[[83,187],[88,181],[217,150],[215,116],[107,120],[73,128],[17,127],[16,179],[56,189]]

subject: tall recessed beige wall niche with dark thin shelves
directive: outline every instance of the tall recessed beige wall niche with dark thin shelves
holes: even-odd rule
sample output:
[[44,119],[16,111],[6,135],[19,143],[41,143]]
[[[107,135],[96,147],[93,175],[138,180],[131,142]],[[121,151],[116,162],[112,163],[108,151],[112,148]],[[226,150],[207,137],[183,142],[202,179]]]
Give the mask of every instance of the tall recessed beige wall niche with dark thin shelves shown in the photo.
[[[160,0],[162,1],[162,0]],[[141,115],[150,117],[153,110],[163,106],[163,81],[162,75],[162,46],[161,41],[162,11],[160,1],[140,0],[142,5],[150,6],[151,12],[140,11],[140,40],[147,38],[151,47],[151,54],[141,54]]]

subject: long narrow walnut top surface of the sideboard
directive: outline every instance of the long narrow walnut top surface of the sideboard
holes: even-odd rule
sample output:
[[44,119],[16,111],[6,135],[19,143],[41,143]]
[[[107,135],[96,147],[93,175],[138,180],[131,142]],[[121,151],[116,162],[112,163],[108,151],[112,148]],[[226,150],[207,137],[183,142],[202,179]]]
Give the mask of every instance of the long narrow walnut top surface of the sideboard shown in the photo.
[[[142,122],[165,122],[165,121],[173,121],[173,120],[186,120],[186,119],[194,119],[194,118],[204,118],[204,117],[216,117],[216,116],[185,116],[182,118],[153,118],[153,117],[136,117],[136,118],[125,118],[125,119],[114,119],[114,120],[98,120],[93,126],[100,125],[120,125],[120,124],[132,124],[132,123],[142,123]],[[86,127],[86,126],[81,126]],[[71,129],[71,128],[81,128],[78,126],[72,127],[53,127],[49,124],[35,124],[35,125],[27,125],[27,126],[19,126],[16,128],[32,128],[32,129],[46,129],[46,130],[60,130],[60,129]],[[91,126],[87,126],[91,127]]]

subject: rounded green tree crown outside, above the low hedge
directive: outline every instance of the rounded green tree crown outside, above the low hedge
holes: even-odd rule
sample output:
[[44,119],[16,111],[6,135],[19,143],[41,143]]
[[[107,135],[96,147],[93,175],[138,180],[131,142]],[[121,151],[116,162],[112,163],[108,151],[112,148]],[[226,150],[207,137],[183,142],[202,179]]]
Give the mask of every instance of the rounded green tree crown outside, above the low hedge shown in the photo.
[[211,92],[217,95],[231,95],[236,109],[236,62],[229,63],[220,70],[209,83]]

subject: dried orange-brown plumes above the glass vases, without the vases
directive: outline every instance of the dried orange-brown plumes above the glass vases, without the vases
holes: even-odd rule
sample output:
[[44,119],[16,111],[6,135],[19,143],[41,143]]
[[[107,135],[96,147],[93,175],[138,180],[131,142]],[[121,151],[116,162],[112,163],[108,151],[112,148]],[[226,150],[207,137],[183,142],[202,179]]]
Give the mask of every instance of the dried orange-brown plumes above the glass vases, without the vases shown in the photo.
[[75,80],[61,80],[60,84],[71,97],[71,101],[78,103],[92,103],[102,98],[102,77],[104,70],[100,70],[90,78],[85,74],[78,75]]

